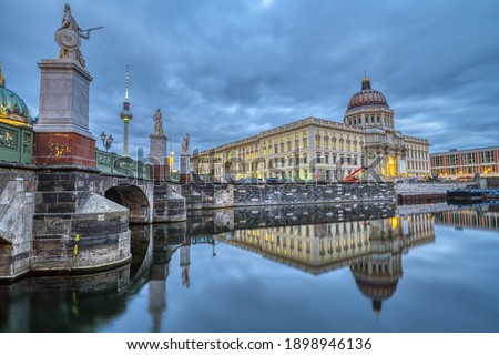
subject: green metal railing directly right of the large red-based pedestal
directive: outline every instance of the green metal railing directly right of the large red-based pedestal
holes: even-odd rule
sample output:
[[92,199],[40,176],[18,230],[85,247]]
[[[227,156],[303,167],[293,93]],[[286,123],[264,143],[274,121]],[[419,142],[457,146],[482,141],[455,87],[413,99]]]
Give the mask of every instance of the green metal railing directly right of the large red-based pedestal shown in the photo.
[[133,160],[129,156],[121,156],[116,153],[109,153],[95,150],[96,168],[103,173],[113,175],[125,175],[129,178],[150,179],[149,164]]

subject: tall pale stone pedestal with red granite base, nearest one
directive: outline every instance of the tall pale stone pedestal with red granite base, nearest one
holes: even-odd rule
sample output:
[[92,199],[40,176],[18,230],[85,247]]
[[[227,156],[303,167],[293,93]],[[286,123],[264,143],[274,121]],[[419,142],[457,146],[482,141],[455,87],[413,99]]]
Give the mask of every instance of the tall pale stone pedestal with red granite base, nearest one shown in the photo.
[[90,73],[71,59],[42,60],[33,159],[39,165],[95,166],[89,131]]

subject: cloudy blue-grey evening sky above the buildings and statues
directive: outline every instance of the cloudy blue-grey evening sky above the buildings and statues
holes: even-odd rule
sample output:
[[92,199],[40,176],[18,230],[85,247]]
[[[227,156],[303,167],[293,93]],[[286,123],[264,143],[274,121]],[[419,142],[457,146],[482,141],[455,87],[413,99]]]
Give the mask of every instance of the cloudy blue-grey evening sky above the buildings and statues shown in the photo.
[[[6,87],[38,115],[42,59],[65,1],[0,0]],[[131,151],[153,115],[180,151],[210,149],[307,116],[343,121],[367,71],[396,129],[431,152],[499,145],[499,1],[73,0],[83,40],[90,129],[122,151],[125,65]],[[98,144],[100,142],[98,141]],[[170,146],[169,146],[170,149]]]

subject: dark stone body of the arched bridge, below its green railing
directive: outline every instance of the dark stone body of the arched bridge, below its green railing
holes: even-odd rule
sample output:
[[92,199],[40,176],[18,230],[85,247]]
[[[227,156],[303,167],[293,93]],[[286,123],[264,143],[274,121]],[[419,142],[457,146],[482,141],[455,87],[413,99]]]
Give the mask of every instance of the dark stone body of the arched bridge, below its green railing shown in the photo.
[[186,220],[179,190],[135,173],[0,163],[0,278],[128,263],[129,223]]

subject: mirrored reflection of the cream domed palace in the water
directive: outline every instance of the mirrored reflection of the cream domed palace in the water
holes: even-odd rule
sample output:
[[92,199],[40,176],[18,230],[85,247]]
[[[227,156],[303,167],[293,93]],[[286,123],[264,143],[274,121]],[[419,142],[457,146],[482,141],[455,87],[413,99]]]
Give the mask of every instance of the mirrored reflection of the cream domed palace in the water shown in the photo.
[[435,241],[435,217],[419,214],[379,220],[243,229],[215,234],[217,241],[322,274],[349,267],[360,292],[379,312],[403,275],[401,255]]

